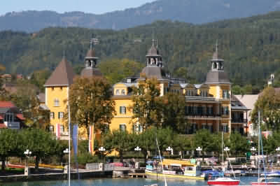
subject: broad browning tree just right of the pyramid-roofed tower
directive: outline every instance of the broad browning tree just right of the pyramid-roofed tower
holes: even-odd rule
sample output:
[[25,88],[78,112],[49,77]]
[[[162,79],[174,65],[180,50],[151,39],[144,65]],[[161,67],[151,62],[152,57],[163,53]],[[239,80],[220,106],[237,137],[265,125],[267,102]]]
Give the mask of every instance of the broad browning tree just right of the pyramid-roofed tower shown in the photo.
[[90,125],[102,129],[111,123],[116,113],[115,101],[111,99],[110,84],[102,78],[76,78],[70,87],[69,105],[71,120],[79,127],[87,129],[90,136]]

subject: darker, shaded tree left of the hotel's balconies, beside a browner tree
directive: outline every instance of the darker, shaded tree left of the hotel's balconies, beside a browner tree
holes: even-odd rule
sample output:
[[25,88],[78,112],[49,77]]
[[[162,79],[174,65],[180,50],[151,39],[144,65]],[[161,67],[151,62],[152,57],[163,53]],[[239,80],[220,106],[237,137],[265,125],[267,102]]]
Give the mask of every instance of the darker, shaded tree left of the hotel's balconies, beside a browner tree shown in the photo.
[[169,92],[162,97],[162,127],[171,127],[180,132],[186,129],[188,121],[185,115],[185,96]]

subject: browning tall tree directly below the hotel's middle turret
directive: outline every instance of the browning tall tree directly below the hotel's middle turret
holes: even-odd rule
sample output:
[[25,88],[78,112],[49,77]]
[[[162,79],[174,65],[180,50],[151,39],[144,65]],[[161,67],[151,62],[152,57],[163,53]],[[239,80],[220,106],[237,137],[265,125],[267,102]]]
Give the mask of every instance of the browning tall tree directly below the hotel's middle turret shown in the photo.
[[133,90],[132,121],[137,120],[144,125],[144,129],[151,126],[159,127],[162,122],[162,98],[160,97],[160,83],[156,78],[143,76]]

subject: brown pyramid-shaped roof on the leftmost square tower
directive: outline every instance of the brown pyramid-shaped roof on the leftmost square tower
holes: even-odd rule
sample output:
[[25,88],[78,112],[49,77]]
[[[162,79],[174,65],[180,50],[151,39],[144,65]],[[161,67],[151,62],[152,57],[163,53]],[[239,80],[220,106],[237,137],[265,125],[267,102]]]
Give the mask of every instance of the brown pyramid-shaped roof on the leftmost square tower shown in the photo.
[[55,71],[45,83],[45,87],[48,86],[69,86],[73,83],[75,73],[67,62],[66,58],[63,57],[62,61],[59,62]]

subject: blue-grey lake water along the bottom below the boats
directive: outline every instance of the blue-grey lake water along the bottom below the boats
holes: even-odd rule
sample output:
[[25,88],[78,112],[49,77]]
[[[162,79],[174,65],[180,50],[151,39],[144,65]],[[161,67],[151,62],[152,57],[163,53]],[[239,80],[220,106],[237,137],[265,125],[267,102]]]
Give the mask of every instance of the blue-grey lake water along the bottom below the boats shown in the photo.
[[[251,181],[257,181],[257,177],[240,177],[240,185],[250,185]],[[275,180],[280,181],[280,178]],[[71,180],[71,186],[87,186],[87,185],[100,185],[100,186],[144,186],[157,183],[157,180],[144,179],[144,178],[100,178],[100,179],[87,179],[87,180]],[[158,184],[165,185],[164,181],[159,180]],[[182,185],[207,185],[207,181],[203,180],[167,180],[168,186],[182,186]],[[37,182],[20,182],[20,183],[0,183],[5,186],[67,186],[67,180],[55,181],[37,181]]]

